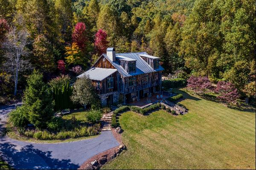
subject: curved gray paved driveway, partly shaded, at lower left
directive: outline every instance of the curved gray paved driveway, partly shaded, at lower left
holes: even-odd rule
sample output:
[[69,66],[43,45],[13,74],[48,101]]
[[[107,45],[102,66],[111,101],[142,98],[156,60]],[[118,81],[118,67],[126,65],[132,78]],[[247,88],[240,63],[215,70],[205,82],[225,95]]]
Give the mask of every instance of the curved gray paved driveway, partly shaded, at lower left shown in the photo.
[[[13,108],[15,105],[0,108],[0,128]],[[2,137],[0,156],[15,169],[77,169],[90,157],[118,145],[111,131],[102,131],[93,139],[56,144],[28,143]]]

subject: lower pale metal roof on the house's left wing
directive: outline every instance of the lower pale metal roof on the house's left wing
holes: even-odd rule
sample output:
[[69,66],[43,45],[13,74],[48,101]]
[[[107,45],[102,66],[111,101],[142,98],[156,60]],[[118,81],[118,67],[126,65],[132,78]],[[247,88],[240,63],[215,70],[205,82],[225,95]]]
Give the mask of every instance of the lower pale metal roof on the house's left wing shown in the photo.
[[111,68],[90,68],[90,70],[85,71],[83,74],[80,74],[78,78],[88,76],[89,79],[102,81],[116,71],[116,69]]

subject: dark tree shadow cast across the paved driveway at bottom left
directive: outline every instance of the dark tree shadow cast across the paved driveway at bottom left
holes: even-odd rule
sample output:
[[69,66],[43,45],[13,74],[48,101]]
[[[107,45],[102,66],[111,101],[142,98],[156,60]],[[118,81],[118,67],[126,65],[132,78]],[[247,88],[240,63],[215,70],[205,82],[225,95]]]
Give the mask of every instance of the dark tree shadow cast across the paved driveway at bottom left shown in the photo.
[[[0,139],[3,140],[3,139]],[[59,151],[61,152],[61,150]],[[32,144],[17,148],[9,142],[0,143],[0,155],[15,169],[77,169],[78,164],[70,163],[70,159],[51,158],[52,151],[35,149]]]

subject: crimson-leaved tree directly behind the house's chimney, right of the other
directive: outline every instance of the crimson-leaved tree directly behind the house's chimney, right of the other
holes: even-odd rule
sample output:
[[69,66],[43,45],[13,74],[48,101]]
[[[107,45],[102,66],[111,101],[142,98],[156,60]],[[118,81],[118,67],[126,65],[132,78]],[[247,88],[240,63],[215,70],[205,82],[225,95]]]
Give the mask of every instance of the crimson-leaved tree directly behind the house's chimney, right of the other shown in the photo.
[[107,36],[108,34],[106,33],[106,31],[99,29],[97,31],[97,33],[95,34],[95,48],[96,51],[101,55],[103,54],[108,47],[108,41],[107,41]]

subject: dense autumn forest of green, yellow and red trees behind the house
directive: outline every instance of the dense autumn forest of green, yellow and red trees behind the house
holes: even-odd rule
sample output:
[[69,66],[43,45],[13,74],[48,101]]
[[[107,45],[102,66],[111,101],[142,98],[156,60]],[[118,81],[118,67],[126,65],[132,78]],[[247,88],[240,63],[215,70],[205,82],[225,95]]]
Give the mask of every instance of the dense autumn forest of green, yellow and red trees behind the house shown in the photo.
[[255,22],[254,0],[0,0],[1,102],[22,94],[33,69],[45,82],[75,77],[107,47],[255,97]]

